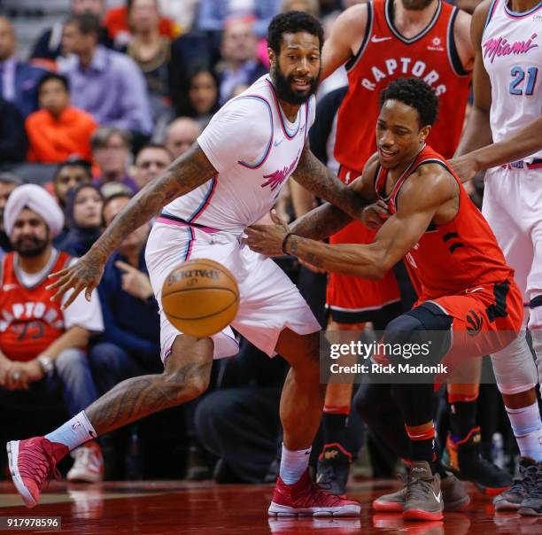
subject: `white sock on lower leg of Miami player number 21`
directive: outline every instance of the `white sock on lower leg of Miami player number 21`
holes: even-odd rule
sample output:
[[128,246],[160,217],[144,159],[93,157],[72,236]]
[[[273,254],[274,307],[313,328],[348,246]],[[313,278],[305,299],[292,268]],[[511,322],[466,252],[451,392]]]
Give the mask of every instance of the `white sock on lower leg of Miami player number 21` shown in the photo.
[[529,407],[506,409],[522,457],[542,461],[542,420],[538,402]]

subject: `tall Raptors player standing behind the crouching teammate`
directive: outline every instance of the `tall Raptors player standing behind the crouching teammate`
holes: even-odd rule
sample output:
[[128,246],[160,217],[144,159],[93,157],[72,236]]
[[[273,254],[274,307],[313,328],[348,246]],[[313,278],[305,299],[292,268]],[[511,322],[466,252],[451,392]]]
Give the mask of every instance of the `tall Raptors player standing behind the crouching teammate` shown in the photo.
[[[323,49],[323,76],[345,64],[349,87],[337,119],[335,157],[341,164],[339,177],[352,182],[361,174],[376,150],[373,125],[378,116],[378,97],[386,85],[400,76],[422,78],[437,92],[439,118],[429,143],[445,158],[451,158],[461,136],[468,98],[474,50],[470,43],[470,15],[438,0],[374,0],[346,10],[332,29]],[[371,243],[375,230],[360,221],[330,237],[330,243]],[[331,330],[362,330],[360,322],[373,322],[376,330],[400,314],[399,285],[393,271],[382,281],[329,274],[327,302]],[[511,484],[510,477],[484,462],[479,454],[476,430],[478,367],[470,384],[450,384],[452,405],[449,449],[453,468],[484,489],[499,492]],[[465,374],[462,375],[463,380]],[[352,386],[330,384],[324,407],[324,430],[329,420],[348,415]],[[372,404],[373,407],[374,404]],[[339,423],[335,424],[338,428]],[[329,425],[328,427],[332,427]],[[337,433],[337,437],[338,437]],[[325,438],[329,444],[340,442]],[[455,440],[455,442],[454,442]],[[345,492],[348,472],[346,454],[339,446],[332,461],[321,455],[318,481]],[[453,450],[453,451],[452,451]],[[339,462],[338,460],[343,460]],[[340,493],[340,492],[339,492]]]

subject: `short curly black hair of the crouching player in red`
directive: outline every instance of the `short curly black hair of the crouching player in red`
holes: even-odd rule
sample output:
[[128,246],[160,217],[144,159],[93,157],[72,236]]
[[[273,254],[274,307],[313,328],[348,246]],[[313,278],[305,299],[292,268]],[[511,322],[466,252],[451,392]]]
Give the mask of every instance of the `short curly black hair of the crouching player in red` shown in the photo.
[[418,112],[420,126],[434,125],[438,115],[435,90],[420,78],[398,78],[391,81],[380,94],[380,107],[386,100],[399,100]]

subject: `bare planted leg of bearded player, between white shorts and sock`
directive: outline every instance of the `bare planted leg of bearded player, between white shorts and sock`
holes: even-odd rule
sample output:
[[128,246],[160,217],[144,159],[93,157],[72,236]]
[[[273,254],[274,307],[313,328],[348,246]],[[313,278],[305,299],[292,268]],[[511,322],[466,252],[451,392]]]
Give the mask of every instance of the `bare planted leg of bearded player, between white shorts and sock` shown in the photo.
[[281,397],[284,446],[301,450],[313,444],[320,426],[326,385],[320,384],[319,334],[300,336],[285,329],[276,352],[290,363]]

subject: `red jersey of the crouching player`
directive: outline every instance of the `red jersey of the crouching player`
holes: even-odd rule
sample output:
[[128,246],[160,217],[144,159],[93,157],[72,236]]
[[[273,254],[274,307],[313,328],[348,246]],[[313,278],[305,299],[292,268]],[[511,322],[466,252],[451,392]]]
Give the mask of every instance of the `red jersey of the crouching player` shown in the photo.
[[[396,213],[396,199],[401,186],[424,164],[438,164],[452,174],[460,186],[460,199],[453,220],[445,225],[431,224],[406,255],[408,268],[422,285],[419,300],[437,299],[469,289],[472,291],[476,286],[513,280],[514,270],[507,266],[489,224],[470,201],[445,159],[430,146],[426,145],[406,168],[389,195],[385,195],[388,172],[378,166],[376,195],[387,203],[390,213]],[[410,180],[416,180],[416,177]]]

